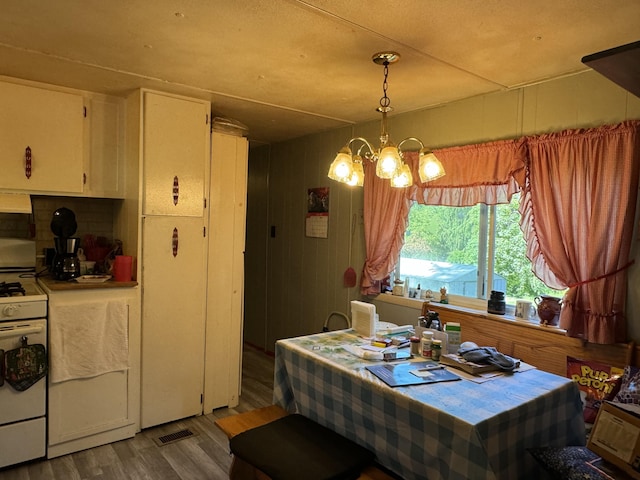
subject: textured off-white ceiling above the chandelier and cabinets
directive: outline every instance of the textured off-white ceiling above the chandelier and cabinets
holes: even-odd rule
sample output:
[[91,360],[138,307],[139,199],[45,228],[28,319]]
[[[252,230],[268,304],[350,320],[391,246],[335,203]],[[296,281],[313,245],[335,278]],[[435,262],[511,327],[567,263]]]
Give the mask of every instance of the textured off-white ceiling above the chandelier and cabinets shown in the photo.
[[276,142],[586,70],[638,0],[0,0],[0,75],[211,100]]

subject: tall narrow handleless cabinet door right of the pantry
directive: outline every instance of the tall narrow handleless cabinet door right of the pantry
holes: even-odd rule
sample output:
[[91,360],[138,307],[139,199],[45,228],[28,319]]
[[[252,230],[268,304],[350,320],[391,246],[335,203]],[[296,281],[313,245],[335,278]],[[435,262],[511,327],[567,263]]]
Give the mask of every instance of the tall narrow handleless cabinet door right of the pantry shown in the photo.
[[[235,407],[242,372],[247,139],[211,137],[209,272],[204,410]],[[224,338],[225,342],[218,342]]]

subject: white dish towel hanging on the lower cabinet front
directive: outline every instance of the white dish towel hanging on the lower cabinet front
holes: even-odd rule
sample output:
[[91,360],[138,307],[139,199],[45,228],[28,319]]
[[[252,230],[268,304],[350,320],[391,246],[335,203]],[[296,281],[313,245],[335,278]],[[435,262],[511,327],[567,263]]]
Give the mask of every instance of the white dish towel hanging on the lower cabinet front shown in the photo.
[[51,381],[91,378],[129,368],[126,301],[49,308]]

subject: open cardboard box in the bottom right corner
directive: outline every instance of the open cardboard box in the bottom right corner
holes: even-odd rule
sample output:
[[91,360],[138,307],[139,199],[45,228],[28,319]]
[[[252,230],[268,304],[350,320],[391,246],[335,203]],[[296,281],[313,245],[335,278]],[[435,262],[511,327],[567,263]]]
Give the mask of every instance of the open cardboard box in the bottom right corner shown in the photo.
[[640,416],[619,405],[602,404],[587,447],[640,480]]

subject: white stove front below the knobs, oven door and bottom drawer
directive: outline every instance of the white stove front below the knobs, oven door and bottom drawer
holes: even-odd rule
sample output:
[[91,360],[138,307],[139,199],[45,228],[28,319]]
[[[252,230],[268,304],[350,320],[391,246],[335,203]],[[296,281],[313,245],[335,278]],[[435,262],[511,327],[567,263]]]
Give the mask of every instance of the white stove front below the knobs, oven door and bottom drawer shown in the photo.
[[[29,344],[47,345],[47,321],[0,322],[0,349],[20,347],[23,336]],[[45,377],[22,392],[7,382],[0,387],[0,468],[45,456],[46,386]]]

